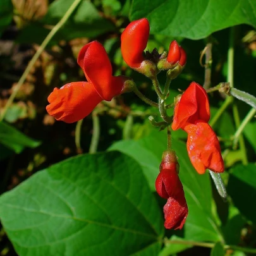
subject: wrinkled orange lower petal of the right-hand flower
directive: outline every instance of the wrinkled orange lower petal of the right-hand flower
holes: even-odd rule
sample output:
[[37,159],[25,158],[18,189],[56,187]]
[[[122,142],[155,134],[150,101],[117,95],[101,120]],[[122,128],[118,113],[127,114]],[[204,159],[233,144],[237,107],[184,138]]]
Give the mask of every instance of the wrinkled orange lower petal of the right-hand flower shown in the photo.
[[217,173],[224,171],[224,162],[221,156],[221,147],[216,134],[204,121],[196,121],[195,125],[187,125],[184,129],[188,133],[186,148],[193,167],[199,174],[205,169]]

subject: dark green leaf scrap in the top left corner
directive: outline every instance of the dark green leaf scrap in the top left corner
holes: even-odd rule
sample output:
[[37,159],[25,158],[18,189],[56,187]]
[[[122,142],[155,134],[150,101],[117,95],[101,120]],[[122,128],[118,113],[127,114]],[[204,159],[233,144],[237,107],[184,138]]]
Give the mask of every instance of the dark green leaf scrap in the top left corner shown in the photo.
[[13,18],[13,4],[11,0],[0,1],[0,36]]

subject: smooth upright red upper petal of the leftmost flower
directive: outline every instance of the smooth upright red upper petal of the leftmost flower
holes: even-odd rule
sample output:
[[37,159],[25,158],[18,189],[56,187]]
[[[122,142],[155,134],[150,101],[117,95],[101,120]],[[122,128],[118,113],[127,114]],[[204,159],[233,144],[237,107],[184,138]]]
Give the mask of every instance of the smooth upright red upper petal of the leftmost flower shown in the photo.
[[112,76],[112,66],[102,44],[94,41],[84,46],[78,55],[78,64],[83,64],[87,80],[92,82],[102,99],[111,101],[114,96],[121,94],[123,78]]

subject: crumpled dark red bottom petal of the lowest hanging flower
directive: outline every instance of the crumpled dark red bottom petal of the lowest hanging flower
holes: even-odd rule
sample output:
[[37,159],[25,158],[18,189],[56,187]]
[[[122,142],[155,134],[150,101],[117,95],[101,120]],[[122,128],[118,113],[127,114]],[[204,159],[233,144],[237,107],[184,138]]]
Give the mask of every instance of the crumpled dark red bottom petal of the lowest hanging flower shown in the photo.
[[188,205],[184,191],[182,190],[177,197],[169,197],[164,205],[164,227],[167,229],[181,229],[188,216]]

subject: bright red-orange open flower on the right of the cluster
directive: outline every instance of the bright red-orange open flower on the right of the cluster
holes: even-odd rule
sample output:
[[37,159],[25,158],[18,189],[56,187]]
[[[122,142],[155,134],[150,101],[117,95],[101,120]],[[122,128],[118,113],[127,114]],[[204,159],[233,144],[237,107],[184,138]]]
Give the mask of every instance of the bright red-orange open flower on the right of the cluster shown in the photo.
[[219,140],[208,124],[209,119],[207,93],[198,83],[192,82],[175,106],[171,127],[188,133],[188,156],[199,174],[204,174],[205,169],[216,173],[224,171]]

